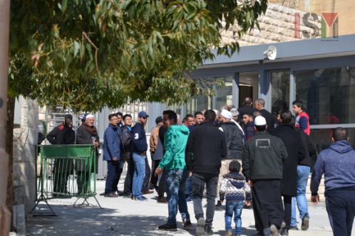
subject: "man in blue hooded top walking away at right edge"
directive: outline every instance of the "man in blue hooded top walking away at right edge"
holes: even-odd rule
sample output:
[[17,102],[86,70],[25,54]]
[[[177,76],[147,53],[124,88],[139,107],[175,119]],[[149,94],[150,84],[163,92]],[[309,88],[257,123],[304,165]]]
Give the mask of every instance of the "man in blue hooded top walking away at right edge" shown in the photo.
[[319,201],[318,188],[324,174],[326,211],[334,236],[350,236],[355,216],[355,151],[347,129],[336,128],[332,140],[314,165],[311,201],[314,205]]

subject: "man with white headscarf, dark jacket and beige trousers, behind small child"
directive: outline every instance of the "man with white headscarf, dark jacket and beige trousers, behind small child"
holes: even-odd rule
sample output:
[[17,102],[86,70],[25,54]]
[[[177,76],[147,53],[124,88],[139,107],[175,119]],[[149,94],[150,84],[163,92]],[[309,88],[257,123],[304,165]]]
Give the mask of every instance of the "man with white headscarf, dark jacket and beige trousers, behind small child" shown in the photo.
[[[227,111],[227,109],[222,109],[219,115],[220,119],[220,130],[225,134],[225,139],[227,141],[227,156],[222,158],[220,176],[218,177],[217,194],[220,193],[220,184],[223,179],[223,175],[228,173],[228,167],[232,161],[240,161],[242,164],[242,155],[244,149],[244,132],[242,127],[235,122],[232,117],[232,113]],[[242,170],[240,170],[241,173]],[[216,210],[222,210],[221,201],[217,200]]]

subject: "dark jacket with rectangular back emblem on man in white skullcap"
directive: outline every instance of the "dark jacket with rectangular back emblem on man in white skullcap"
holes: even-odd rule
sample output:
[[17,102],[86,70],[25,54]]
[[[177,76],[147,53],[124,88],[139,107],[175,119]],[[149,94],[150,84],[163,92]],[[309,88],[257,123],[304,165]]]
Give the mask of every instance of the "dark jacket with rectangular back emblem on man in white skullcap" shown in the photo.
[[247,181],[281,179],[287,151],[282,140],[259,132],[245,142],[242,171]]

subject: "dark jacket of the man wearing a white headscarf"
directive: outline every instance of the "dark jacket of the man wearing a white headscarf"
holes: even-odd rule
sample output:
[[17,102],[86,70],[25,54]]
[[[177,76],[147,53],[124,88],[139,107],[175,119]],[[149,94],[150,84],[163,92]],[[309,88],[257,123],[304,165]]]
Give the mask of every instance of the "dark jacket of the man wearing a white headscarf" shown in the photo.
[[222,132],[225,134],[227,142],[227,156],[223,159],[242,159],[244,150],[244,137],[242,130],[235,122],[225,122],[220,124]]

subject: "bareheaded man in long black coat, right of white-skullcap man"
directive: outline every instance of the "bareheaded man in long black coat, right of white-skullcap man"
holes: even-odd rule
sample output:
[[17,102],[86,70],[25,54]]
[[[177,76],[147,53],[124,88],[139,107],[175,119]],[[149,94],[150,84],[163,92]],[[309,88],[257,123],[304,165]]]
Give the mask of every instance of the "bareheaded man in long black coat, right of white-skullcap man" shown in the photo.
[[292,114],[288,110],[280,112],[282,123],[269,133],[282,139],[288,158],[284,162],[281,193],[284,197],[284,222],[282,235],[288,235],[291,225],[292,197],[297,196],[297,164],[306,157],[307,147],[302,143],[300,134],[291,125]]

